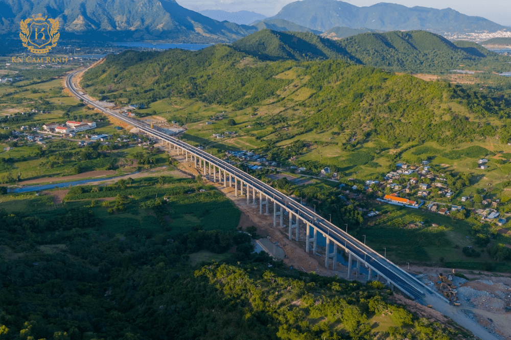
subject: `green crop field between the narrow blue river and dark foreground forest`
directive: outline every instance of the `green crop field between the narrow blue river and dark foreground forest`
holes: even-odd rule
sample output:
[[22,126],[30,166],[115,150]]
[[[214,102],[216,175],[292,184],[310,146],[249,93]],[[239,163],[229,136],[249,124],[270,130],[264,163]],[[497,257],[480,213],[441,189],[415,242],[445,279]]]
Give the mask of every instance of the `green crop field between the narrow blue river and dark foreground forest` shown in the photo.
[[[87,209],[103,221],[100,231],[119,235],[131,229],[152,233],[166,230],[178,235],[194,228],[230,231],[238,226],[240,211],[214,187],[168,176],[163,178],[165,184],[159,184],[162,178],[138,178],[131,184],[126,181],[124,189],[119,184],[94,186],[99,188],[98,192],[90,192],[92,186],[78,186],[70,190],[64,203],[59,205],[53,203],[51,195],[8,194],[0,196],[0,206],[6,211],[35,213]],[[206,191],[196,192],[201,188]],[[118,195],[127,200],[122,209],[115,208]],[[164,197],[168,197],[168,201]],[[154,205],[155,202],[159,203]]]

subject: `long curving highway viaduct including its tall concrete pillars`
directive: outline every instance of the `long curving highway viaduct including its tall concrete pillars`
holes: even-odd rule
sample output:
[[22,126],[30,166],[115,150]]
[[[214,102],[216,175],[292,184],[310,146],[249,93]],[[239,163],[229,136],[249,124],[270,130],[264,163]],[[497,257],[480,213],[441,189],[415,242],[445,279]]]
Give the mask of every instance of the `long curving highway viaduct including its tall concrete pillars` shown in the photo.
[[[260,214],[272,213],[274,227],[277,224],[283,226],[284,213],[287,212],[289,218],[289,239],[294,238],[298,240],[299,228],[305,228],[307,253],[311,251],[314,254],[316,253],[318,234],[323,235],[326,238],[324,263],[327,268],[332,266],[332,269],[336,270],[337,249],[341,248],[348,255],[348,279],[352,275],[354,266],[356,265],[358,273],[362,265],[368,270],[369,280],[374,280],[375,277],[384,279],[392,288],[395,286],[412,299],[421,300],[427,295],[433,295],[447,302],[444,297],[440,296],[413,275],[408,274],[398,265],[367,247],[355,237],[325,220],[306,206],[284,195],[282,192],[203,150],[169,136],[158,128],[151,128],[151,126],[140,120],[125,117],[92,101],[86,94],[77,90],[73,84],[73,77],[79,71],[83,71],[83,69],[67,75],[65,84],[73,95],[83,100],[84,104],[95,107],[107,115],[122,120],[147,135],[161,140],[162,143],[168,143],[170,149],[177,150],[178,154],[184,155],[187,161],[191,160],[194,162],[197,169],[204,176],[211,176],[214,182],[223,183],[224,187],[234,187],[234,195],[237,197],[245,196],[247,204],[259,205]],[[333,260],[331,261],[332,258]]]

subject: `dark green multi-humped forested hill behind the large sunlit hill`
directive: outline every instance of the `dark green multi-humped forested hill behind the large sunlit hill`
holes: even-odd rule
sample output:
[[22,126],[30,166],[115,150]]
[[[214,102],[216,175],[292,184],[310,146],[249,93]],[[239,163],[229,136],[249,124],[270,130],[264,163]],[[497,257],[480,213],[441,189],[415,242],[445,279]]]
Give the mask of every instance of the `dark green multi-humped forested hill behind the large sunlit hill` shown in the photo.
[[332,41],[312,33],[263,30],[233,43],[263,60],[341,59],[401,72],[445,73],[464,67],[509,70],[511,58],[470,42],[450,42],[426,31],[362,33]]

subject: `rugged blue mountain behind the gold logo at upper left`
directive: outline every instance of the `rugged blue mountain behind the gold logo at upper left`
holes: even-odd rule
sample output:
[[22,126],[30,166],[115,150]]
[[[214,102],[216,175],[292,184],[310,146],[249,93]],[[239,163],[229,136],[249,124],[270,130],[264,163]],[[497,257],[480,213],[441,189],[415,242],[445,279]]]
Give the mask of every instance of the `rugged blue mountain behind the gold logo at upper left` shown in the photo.
[[19,22],[38,13],[58,19],[63,38],[217,43],[257,31],[211,19],[175,0],[2,0],[0,34],[16,37]]

